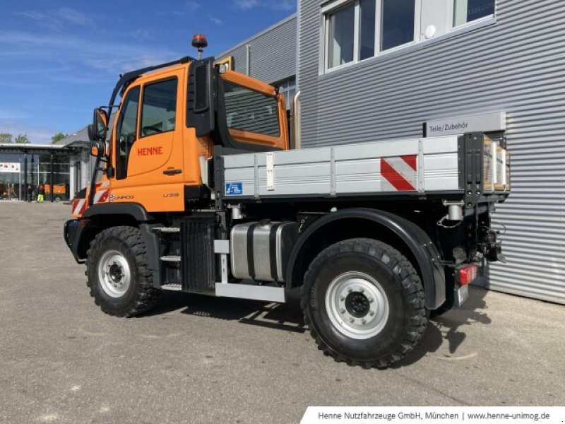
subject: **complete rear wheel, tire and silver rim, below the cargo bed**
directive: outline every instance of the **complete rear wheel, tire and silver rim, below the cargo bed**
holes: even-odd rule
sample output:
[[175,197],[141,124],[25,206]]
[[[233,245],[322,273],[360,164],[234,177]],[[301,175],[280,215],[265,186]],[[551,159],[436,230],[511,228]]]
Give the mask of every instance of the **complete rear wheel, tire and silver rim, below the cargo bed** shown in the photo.
[[427,326],[414,266],[383,242],[338,242],[309,266],[304,319],[321,351],[350,365],[384,368],[414,348]]

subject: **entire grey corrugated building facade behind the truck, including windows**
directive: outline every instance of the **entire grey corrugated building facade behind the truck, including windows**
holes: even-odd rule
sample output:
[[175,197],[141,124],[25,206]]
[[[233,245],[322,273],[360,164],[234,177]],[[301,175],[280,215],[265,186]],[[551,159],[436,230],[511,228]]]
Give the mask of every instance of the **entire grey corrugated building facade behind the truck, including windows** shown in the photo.
[[508,263],[486,284],[565,303],[564,52],[558,0],[300,0],[296,17],[222,57],[268,83],[295,76],[303,147],[499,117],[489,129],[508,140],[512,194],[494,220]]

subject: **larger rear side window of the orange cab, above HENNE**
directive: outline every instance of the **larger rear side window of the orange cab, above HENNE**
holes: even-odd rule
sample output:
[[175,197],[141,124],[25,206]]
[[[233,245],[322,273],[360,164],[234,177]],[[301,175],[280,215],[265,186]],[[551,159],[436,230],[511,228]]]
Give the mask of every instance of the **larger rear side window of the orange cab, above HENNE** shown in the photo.
[[177,117],[177,78],[143,87],[141,137],[174,131]]

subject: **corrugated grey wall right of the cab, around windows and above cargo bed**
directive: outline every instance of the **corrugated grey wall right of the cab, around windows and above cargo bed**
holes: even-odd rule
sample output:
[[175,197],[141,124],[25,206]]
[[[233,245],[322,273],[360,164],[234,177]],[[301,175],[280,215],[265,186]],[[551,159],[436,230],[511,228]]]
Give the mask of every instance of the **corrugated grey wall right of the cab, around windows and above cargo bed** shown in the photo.
[[508,264],[489,287],[565,303],[565,2],[499,0],[496,23],[319,75],[323,1],[301,1],[302,144],[420,136],[433,118],[508,112]]

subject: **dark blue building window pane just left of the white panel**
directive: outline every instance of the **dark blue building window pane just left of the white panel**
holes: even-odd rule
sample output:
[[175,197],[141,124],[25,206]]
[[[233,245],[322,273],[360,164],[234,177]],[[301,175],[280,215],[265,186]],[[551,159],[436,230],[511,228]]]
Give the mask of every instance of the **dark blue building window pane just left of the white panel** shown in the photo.
[[416,0],[382,0],[381,51],[414,41]]

